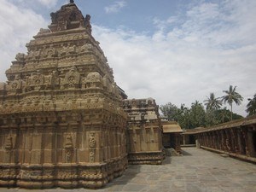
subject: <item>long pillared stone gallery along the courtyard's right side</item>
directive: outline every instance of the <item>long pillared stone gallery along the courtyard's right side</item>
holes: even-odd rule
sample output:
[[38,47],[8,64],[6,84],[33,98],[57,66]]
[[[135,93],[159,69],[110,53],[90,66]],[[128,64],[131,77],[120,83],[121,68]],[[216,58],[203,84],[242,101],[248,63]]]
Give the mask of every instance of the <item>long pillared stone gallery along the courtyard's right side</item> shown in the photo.
[[195,131],[196,144],[256,163],[256,116]]

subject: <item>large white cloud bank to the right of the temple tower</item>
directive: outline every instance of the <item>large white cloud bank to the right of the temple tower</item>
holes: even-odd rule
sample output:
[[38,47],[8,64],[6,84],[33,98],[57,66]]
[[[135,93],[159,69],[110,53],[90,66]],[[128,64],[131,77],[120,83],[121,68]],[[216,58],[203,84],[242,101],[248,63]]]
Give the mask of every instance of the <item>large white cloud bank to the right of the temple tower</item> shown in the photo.
[[234,111],[246,115],[247,97],[256,92],[255,9],[255,1],[199,3],[184,15],[155,18],[152,36],[99,26],[93,32],[130,98],[190,106],[210,92],[223,96],[232,84],[244,97]]

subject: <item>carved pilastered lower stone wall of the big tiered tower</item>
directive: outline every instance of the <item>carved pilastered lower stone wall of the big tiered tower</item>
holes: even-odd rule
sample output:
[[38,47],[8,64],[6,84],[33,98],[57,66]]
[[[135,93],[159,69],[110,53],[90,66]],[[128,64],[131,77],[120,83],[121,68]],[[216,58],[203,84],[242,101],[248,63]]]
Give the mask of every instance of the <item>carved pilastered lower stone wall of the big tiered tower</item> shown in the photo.
[[[110,113],[105,114],[111,118]],[[29,115],[39,116],[39,113],[26,117]],[[112,118],[120,124],[99,121],[88,125],[83,120],[67,120],[66,123],[45,121],[37,125],[1,126],[0,185],[97,188],[108,183],[127,166],[125,120]]]

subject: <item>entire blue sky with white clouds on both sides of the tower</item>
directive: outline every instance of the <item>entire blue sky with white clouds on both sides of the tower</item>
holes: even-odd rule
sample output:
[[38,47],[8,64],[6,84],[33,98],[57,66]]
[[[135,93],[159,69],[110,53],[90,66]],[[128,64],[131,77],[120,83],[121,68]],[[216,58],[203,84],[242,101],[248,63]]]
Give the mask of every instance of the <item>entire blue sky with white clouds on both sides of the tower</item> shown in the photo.
[[[0,0],[0,81],[49,13],[65,0]],[[256,93],[255,0],[75,0],[91,15],[93,36],[129,98],[161,105],[223,96],[230,84],[244,97],[246,115]],[[229,107],[228,107],[229,108]]]

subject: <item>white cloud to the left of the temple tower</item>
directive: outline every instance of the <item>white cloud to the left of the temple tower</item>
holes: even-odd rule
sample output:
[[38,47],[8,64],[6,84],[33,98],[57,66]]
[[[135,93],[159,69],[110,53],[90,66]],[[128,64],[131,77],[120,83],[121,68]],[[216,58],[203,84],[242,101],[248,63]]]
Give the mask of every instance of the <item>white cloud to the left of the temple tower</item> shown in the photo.
[[4,72],[15,60],[15,54],[26,53],[26,43],[47,23],[30,9],[18,8],[5,0],[0,0],[0,4],[0,81],[5,81]]

